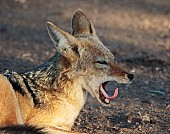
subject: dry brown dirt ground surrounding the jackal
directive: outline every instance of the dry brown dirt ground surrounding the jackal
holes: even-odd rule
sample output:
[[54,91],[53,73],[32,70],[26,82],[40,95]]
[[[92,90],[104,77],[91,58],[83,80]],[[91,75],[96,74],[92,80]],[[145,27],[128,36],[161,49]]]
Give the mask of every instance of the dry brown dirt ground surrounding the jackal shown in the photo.
[[120,93],[109,107],[89,97],[73,130],[170,133],[169,0],[0,0],[0,72],[23,72],[47,61],[55,48],[46,21],[70,32],[77,8],[85,11],[100,39],[135,80],[110,84]]

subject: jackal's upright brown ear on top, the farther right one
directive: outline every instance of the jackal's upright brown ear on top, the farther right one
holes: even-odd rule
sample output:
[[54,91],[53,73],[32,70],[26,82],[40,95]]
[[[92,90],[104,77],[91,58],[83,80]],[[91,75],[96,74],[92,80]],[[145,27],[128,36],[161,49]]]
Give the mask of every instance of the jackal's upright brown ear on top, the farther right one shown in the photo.
[[93,24],[81,9],[77,9],[72,18],[72,35],[96,35]]

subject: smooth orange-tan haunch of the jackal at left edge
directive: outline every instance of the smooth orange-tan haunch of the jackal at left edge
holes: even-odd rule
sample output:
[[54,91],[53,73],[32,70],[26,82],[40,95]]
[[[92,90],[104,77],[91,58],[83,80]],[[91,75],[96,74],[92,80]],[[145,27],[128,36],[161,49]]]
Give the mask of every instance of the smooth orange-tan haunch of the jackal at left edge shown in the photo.
[[6,77],[0,75],[0,126],[22,124],[15,92]]

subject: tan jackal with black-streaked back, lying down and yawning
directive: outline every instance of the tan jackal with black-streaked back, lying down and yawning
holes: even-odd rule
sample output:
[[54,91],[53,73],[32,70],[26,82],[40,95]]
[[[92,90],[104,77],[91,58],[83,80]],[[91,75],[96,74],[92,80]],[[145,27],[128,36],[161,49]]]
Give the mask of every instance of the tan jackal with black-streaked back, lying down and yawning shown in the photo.
[[107,81],[129,83],[133,79],[114,62],[113,54],[98,39],[91,21],[81,10],[73,15],[72,35],[51,22],[47,22],[47,30],[59,55],[38,70],[12,74],[19,75],[24,95],[14,93],[8,80],[0,76],[1,126],[23,121],[45,127],[44,131],[49,133],[71,131],[88,93],[105,104],[100,85]]

